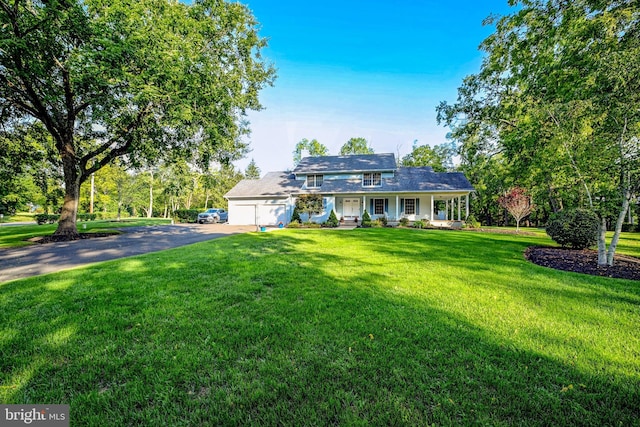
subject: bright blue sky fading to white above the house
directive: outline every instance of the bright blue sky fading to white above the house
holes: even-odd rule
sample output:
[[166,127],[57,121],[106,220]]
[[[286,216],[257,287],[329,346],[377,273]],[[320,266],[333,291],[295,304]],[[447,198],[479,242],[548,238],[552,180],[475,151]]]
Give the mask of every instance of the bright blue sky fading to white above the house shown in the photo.
[[262,174],[293,166],[302,138],[338,154],[351,137],[376,153],[403,156],[414,140],[445,142],[440,101],[454,102],[462,79],[479,70],[482,21],[511,13],[507,0],[245,0],[269,39],[274,87],[251,112],[252,152]]

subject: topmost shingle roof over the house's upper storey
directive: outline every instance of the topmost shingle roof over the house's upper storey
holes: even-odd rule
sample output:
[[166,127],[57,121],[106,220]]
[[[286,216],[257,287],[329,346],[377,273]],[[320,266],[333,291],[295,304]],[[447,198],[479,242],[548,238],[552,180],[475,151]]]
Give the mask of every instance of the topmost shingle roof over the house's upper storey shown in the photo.
[[396,157],[391,153],[319,156],[305,157],[293,173],[382,172],[395,170],[396,167]]

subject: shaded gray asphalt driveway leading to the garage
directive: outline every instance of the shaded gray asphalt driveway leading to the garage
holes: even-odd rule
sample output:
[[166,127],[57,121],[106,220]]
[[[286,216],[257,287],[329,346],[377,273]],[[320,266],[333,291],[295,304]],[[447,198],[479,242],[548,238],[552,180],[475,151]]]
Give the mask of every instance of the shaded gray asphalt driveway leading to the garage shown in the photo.
[[0,283],[94,262],[162,251],[255,229],[255,226],[228,224],[125,227],[120,229],[122,234],[109,237],[0,249]]

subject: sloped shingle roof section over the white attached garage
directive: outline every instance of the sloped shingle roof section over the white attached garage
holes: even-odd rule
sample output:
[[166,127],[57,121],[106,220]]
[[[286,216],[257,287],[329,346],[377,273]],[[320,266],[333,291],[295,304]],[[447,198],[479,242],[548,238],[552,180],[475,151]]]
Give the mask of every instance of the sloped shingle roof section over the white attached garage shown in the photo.
[[288,172],[269,172],[261,179],[243,179],[224,197],[283,196],[300,192],[304,180],[296,180]]

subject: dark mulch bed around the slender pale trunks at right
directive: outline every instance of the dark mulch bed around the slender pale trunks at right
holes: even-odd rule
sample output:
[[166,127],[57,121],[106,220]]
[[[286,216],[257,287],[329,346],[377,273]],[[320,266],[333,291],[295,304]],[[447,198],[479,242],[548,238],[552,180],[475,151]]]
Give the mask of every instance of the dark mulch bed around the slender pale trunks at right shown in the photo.
[[599,267],[598,252],[589,249],[532,246],[525,251],[524,256],[534,264],[556,270],[617,279],[640,280],[640,259],[624,255],[616,255],[611,267]]

